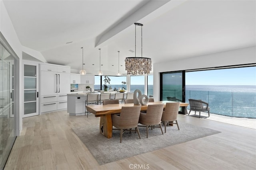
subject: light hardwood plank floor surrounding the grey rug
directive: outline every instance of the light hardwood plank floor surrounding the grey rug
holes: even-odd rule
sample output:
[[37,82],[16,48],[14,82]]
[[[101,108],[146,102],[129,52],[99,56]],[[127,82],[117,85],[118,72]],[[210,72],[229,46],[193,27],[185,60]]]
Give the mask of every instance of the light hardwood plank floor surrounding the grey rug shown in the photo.
[[222,133],[99,166],[71,128],[99,124],[100,118],[57,111],[23,119],[4,170],[255,169],[255,130],[180,114],[178,121]]

